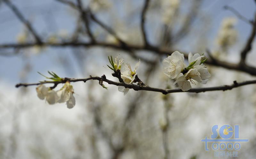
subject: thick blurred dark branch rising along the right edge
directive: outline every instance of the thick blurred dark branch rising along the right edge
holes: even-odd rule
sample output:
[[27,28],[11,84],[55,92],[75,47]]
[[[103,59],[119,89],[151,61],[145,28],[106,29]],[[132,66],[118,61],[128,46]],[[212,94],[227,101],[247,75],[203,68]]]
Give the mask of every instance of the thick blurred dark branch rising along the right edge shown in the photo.
[[254,20],[253,20],[252,31],[251,31],[250,37],[248,38],[248,40],[244,46],[244,49],[241,51],[241,61],[240,61],[241,65],[245,64],[245,59],[246,59],[247,53],[252,49],[252,42],[255,38],[255,35],[256,35],[256,13],[254,15]]

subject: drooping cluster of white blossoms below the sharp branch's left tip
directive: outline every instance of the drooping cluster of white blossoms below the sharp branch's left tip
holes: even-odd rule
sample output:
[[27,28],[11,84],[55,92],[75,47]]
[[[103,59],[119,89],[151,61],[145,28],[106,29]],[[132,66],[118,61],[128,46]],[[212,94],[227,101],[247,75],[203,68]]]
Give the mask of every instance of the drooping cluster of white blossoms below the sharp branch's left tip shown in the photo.
[[37,96],[40,99],[45,99],[48,104],[64,103],[66,102],[68,108],[73,108],[76,104],[74,97],[73,86],[69,82],[60,88],[60,90],[55,91],[50,87],[45,87],[44,85],[39,85],[36,87]]

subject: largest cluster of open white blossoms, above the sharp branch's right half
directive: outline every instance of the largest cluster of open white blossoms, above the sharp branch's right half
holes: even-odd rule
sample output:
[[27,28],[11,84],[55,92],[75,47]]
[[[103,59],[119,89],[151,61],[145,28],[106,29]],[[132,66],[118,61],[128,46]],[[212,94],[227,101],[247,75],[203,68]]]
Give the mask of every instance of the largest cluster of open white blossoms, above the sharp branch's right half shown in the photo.
[[184,63],[184,55],[179,51],[175,51],[171,56],[163,60],[164,74],[171,79],[175,79],[173,84],[178,84],[182,91],[191,89],[191,84],[196,84],[194,80],[202,84],[206,84],[211,77],[204,65],[207,58],[199,54],[188,55],[189,65],[186,67]]

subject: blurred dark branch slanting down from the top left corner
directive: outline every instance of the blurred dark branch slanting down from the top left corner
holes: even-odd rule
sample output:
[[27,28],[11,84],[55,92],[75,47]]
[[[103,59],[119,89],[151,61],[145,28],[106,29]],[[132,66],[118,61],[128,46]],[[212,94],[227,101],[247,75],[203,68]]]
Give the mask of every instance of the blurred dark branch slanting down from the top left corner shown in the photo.
[[32,27],[30,22],[24,18],[24,16],[21,14],[19,9],[14,4],[12,4],[9,0],[3,0],[3,1],[14,12],[14,14],[18,17],[18,19],[20,19],[20,21],[28,28],[30,33],[36,39],[37,44],[41,44],[42,40],[39,37],[39,35],[36,33],[36,30]]

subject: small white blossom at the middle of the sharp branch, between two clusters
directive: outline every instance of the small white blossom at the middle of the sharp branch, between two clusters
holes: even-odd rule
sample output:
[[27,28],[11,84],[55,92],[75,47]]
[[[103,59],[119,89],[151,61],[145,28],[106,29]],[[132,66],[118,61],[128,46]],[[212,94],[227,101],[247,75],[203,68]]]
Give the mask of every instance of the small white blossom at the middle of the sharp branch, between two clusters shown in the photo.
[[[126,68],[124,69],[124,72],[121,72],[121,78],[124,80],[124,83],[130,84],[135,80],[135,77],[137,75],[137,69],[140,66],[140,60],[136,63],[134,70],[132,70],[131,64],[126,64]],[[129,88],[125,88],[123,86],[118,86],[118,91],[124,92],[124,95],[127,94],[129,91]]]

